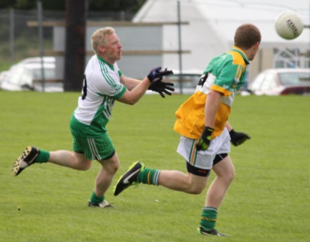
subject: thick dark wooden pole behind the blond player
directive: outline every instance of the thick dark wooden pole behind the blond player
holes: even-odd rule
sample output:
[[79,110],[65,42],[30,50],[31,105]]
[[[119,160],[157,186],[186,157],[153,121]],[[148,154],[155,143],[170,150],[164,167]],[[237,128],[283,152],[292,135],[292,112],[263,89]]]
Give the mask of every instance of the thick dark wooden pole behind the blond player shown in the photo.
[[81,91],[85,68],[87,0],[65,1],[65,91]]

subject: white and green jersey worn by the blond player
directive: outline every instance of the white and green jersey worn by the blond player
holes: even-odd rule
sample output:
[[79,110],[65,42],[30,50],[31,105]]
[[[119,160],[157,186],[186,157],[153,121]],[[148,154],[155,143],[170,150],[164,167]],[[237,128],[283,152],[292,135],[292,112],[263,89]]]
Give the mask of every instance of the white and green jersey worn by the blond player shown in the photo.
[[123,96],[122,73],[117,64],[110,65],[100,56],[88,61],[83,81],[82,96],[70,120],[73,135],[96,137],[107,131],[114,102]]

